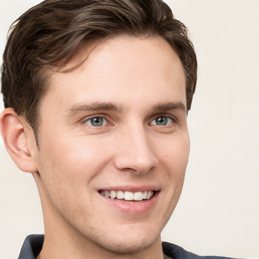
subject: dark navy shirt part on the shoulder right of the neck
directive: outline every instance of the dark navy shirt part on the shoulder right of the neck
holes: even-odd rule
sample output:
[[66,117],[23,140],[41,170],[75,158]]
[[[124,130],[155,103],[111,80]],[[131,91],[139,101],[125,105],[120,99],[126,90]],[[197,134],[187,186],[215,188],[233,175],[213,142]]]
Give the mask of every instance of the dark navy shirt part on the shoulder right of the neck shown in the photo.
[[162,246],[164,254],[173,259],[231,259],[223,256],[200,256],[168,242],[163,242]]

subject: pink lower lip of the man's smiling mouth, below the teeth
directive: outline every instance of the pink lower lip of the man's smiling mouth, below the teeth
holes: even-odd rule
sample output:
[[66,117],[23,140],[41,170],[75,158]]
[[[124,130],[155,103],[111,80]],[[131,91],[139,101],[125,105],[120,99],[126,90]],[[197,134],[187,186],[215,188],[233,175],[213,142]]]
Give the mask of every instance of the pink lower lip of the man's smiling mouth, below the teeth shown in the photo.
[[159,191],[155,192],[154,196],[152,198],[150,198],[149,200],[142,200],[142,201],[125,201],[123,199],[111,199],[111,198],[107,198],[101,194],[99,194],[101,196],[101,198],[103,198],[103,200],[105,202],[107,202],[109,205],[119,209],[121,212],[123,213],[127,213],[127,214],[142,214],[145,212],[148,212],[149,210],[151,210],[157,200],[158,200],[158,195],[159,195]]

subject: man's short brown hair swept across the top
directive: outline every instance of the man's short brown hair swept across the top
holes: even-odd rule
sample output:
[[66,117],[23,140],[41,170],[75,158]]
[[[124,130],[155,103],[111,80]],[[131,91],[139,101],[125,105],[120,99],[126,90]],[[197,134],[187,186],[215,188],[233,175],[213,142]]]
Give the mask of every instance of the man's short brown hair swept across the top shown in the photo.
[[187,110],[191,108],[196,54],[188,29],[160,0],[46,0],[21,15],[10,31],[2,67],[4,104],[27,120],[36,142],[38,106],[48,88],[46,67],[61,68],[83,42],[93,39],[163,37],[182,62]]

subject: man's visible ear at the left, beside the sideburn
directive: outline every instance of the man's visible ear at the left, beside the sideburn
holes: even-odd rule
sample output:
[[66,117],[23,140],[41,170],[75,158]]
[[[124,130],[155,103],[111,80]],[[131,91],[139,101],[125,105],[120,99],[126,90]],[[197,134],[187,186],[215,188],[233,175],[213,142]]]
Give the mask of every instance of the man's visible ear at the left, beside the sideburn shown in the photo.
[[[6,148],[16,165],[25,172],[37,171],[32,154],[36,144],[28,145],[34,138],[31,127],[16,114],[13,108],[6,108],[0,118],[1,132]],[[35,142],[35,138],[34,138]]]

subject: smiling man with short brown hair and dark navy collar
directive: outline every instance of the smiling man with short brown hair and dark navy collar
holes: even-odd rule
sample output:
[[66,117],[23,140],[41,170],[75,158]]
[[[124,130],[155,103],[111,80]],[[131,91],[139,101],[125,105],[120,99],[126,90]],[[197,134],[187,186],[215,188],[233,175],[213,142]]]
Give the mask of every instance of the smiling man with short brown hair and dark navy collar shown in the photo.
[[47,0],[18,19],[1,130],[45,222],[19,258],[199,257],[160,240],[184,182],[196,75],[188,31],[160,1]]

